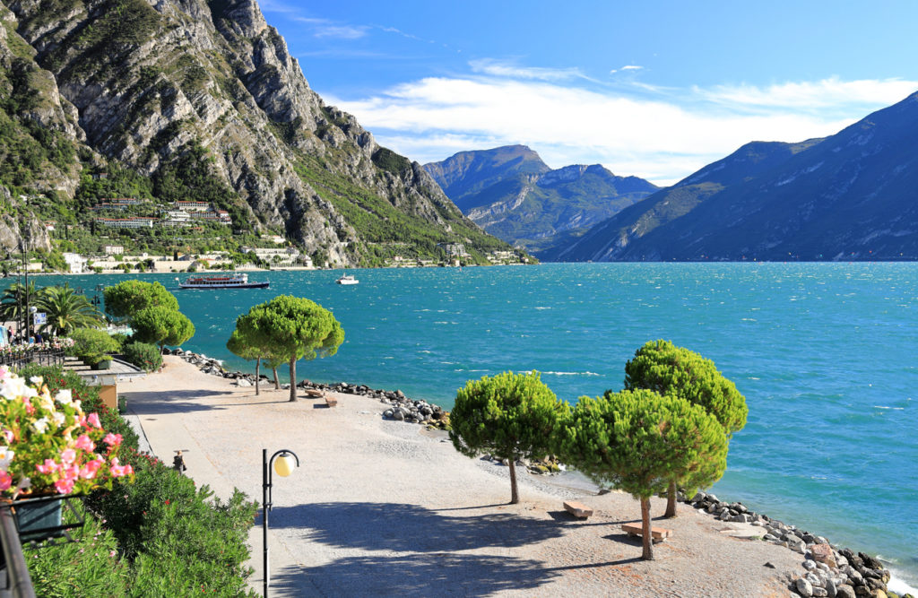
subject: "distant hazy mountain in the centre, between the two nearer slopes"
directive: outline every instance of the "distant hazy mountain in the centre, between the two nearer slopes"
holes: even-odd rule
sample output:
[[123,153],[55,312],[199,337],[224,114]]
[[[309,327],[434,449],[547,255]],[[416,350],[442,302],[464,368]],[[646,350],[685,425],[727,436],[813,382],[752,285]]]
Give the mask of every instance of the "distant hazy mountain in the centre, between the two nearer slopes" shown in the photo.
[[599,164],[552,170],[524,145],[460,152],[424,169],[481,228],[531,251],[576,237],[657,188]]

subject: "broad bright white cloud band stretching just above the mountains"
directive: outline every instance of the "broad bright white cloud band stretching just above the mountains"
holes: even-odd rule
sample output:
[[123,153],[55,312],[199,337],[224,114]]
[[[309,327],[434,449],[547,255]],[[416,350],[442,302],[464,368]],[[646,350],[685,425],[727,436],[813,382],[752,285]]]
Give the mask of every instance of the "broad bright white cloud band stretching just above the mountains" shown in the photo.
[[[918,82],[830,79],[765,89],[610,90],[585,80],[573,84],[576,70],[487,61],[472,68],[474,75],[426,78],[363,98],[326,99],[353,113],[382,145],[421,163],[523,143],[555,168],[599,163],[617,175],[663,185],[748,141],[831,135],[918,88]],[[821,109],[812,109],[811,101]]]

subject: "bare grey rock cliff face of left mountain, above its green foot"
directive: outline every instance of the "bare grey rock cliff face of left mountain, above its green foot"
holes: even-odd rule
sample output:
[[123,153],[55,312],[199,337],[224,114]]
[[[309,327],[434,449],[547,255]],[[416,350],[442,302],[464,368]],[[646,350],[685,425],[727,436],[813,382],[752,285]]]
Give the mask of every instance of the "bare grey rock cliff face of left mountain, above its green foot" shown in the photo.
[[[101,159],[157,179],[189,152],[206,155],[235,213],[256,228],[283,227],[333,264],[355,264],[367,243],[408,226],[425,230],[425,243],[501,244],[465,220],[419,165],[326,106],[252,0],[6,7],[0,60],[15,37],[47,79],[34,118]],[[54,178],[73,197],[75,160],[70,170]],[[380,215],[375,204],[397,213],[368,224]]]

